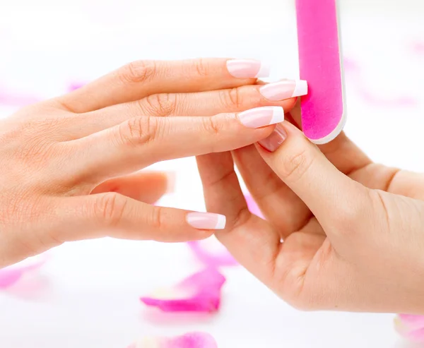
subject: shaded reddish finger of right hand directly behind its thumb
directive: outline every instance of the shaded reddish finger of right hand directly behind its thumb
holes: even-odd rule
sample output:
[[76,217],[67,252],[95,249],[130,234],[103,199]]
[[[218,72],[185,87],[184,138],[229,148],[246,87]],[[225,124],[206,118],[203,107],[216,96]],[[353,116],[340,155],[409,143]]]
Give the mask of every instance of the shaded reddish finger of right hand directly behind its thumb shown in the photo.
[[259,209],[282,238],[306,224],[309,208],[266,164],[254,145],[234,150],[233,157]]

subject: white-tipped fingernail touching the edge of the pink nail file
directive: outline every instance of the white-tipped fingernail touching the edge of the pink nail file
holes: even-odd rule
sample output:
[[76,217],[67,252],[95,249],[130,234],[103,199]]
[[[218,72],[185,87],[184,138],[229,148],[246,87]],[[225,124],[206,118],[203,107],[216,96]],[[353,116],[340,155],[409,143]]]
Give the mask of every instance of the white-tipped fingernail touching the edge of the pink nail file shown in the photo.
[[276,102],[307,95],[307,82],[305,80],[283,80],[264,85],[259,88],[259,91],[267,100]]

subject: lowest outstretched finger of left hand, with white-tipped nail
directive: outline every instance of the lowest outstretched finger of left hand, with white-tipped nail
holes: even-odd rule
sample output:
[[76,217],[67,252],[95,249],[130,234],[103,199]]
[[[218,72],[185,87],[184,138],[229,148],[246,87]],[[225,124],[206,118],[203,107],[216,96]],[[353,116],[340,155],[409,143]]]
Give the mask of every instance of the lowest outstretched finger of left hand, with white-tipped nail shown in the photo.
[[225,227],[225,216],[163,208],[119,193],[66,198],[55,239],[76,241],[111,236],[119,239],[179,242],[205,239]]

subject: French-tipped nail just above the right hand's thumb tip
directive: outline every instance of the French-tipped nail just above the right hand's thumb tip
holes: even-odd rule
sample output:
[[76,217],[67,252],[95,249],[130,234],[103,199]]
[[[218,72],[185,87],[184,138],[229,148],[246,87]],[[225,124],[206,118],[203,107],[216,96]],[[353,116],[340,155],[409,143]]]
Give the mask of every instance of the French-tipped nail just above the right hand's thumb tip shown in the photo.
[[279,124],[284,121],[282,107],[257,107],[238,115],[240,122],[249,128],[261,128],[270,124]]

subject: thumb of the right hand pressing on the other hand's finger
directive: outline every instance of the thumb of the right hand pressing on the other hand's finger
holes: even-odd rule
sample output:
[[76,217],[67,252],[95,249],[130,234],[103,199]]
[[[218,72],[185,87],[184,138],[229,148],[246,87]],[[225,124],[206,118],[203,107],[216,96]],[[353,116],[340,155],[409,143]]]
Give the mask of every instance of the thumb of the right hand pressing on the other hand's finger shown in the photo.
[[260,155],[321,224],[357,216],[369,201],[365,186],[334,167],[303,133],[284,121],[257,145]]

